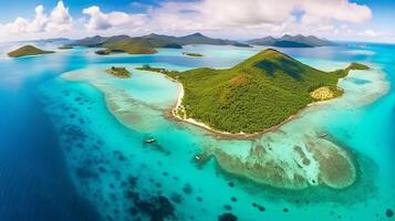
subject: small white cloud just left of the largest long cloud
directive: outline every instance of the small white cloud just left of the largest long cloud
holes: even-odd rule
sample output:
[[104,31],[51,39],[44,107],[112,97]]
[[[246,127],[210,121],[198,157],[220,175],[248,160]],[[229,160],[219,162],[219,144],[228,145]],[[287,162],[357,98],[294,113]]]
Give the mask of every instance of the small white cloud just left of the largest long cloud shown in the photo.
[[137,28],[145,22],[144,14],[128,14],[125,12],[113,11],[104,13],[96,6],[83,10],[84,14],[90,15],[85,27],[90,31],[107,30],[112,28]]

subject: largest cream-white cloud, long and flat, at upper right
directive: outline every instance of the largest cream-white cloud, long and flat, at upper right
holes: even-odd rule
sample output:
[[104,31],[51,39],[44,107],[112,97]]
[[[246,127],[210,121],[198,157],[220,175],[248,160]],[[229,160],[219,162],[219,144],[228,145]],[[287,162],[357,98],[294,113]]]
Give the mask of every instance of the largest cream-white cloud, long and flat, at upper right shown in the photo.
[[165,2],[148,11],[154,22],[171,22],[207,29],[224,27],[259,27],[297,22],[301,12],[302,24],[322,24],[332,21],[360,23],[372,18],[366,6],[349,0],[202,0],[198,2]]

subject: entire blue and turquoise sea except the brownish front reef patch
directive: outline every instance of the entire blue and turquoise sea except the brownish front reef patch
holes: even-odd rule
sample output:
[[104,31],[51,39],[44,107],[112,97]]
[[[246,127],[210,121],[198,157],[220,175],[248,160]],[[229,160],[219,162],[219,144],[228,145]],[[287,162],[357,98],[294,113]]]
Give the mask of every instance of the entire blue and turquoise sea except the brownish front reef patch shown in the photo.
[[[190,45],[154,55],[100,56],[94,49],[9,59],[0,45],[0,220],[391,220],[395,210],[395,45],[342,43],[279,49],[318,69],[373,67],[341,81],[345,95],[309,107],[256,140],[224,140],[165,117],[179,85],[135,70],[230,67],[262,48]],[[54,44],[42,44],[55,49]],[[198,52],[188,57],[181,52]],[[126,66],[118,80],[103,72]],[[195,156],[218,148],[243,156],[263,143],[279,154],[328,133],[356,167],[345,189],[285,190],[226,172]],[[153,145],[145,144],[155,138]],[[228,218],[228,219],[227,219]]]

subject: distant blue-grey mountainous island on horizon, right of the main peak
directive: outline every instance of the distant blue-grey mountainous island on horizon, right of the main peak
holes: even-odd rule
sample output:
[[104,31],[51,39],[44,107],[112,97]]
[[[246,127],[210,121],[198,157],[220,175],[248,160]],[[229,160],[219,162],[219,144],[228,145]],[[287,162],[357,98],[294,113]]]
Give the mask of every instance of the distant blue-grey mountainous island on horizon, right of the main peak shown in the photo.
[[248,41],[249,44],[253,45],[267,45],[267,46],[278,46],[278,48],[315,48],[315,46],[333,46],[333,42],[324,39],[319,39],[313,35],[304,36],[301,34],[289,35],[285,34],[281,38],[266,36],[261,39],[253,39]]

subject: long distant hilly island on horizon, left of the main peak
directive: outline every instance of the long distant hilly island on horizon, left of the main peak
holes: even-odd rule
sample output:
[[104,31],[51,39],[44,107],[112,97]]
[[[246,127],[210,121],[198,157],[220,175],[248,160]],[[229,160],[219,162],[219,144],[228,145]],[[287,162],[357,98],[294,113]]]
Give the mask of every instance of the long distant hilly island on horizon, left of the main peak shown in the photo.
[[187,44],[211,44],[211,45],[233,45],[240,48],[250,46],[249,44],[239,43],[230,40],[211,39],[201,33],[189,34],[185,36],[169,36],[159,34],[148,34],[144,36],[92,36],[76,40],[66,46],[89,46],[89,48],[104,48],[96,51],[96,54],[107,55],[112,53],[127,53],[127,54],[154,54],[156,49],[183,49]]

